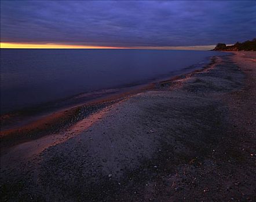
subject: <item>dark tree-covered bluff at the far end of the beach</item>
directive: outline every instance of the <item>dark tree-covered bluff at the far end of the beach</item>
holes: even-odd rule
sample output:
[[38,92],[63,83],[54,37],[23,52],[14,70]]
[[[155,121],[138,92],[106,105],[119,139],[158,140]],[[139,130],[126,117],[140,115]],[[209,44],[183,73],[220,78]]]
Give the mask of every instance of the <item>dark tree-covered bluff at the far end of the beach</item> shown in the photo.
[[213,49],[215,51],[256,51],[256,38],[253,40],[247,40],[246,42],[236,42],[232,46],[226,46],[225,43],[218,43]]

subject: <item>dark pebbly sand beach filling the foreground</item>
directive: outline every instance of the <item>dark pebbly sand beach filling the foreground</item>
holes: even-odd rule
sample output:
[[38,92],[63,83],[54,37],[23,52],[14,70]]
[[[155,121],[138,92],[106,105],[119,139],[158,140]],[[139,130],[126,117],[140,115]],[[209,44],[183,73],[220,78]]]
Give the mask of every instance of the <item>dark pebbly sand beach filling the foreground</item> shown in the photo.
[[255,78],[256,53],[215,57],[58,133],[6,144],[1,199],[255,201]]

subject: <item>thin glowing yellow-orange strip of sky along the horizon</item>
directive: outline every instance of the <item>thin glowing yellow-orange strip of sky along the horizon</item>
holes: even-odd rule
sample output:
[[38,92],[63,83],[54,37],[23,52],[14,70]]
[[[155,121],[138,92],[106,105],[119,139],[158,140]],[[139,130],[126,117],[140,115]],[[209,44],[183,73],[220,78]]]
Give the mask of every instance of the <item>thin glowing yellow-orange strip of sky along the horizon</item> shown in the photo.
[[114,47],[114,46],[85,46],[57,43],[6,43],[0,42],[1,49],[138,49],[138,50],[212,50],[216,45],[203,46],[133,46],[133,47]]

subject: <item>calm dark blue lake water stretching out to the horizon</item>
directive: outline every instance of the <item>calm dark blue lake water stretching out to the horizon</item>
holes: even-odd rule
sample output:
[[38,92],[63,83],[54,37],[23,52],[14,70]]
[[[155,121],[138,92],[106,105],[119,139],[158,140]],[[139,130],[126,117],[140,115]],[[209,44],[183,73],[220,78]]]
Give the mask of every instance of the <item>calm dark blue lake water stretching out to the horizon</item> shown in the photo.
[[215,51],[1,49],[1,114],[83,92],[147,83]]

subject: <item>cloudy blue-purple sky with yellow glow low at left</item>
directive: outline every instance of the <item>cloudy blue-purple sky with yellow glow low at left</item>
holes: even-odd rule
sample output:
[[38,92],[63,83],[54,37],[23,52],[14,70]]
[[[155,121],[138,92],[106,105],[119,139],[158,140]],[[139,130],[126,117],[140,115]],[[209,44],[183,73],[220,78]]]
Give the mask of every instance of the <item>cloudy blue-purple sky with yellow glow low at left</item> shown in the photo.
[[256,37],[256,1],[1,1],[1,47],[174,49]]

